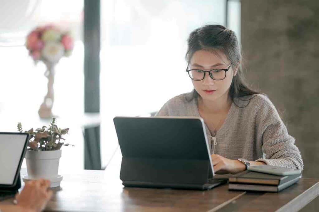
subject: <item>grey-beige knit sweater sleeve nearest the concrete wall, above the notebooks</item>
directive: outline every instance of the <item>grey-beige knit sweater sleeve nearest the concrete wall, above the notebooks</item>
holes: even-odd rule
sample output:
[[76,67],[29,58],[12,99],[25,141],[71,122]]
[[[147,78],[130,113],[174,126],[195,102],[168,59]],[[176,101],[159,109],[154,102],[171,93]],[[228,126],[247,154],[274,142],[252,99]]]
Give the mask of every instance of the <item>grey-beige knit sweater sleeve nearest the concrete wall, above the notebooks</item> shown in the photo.
[[256,161],[272,166],[303,169],[300,151],[294,145],[295,139],[288,134],[271,101],[267,97],[262,99],[264,102],[256,114],[256,130],[257,135],[262,136],[262,151],[266,158]]

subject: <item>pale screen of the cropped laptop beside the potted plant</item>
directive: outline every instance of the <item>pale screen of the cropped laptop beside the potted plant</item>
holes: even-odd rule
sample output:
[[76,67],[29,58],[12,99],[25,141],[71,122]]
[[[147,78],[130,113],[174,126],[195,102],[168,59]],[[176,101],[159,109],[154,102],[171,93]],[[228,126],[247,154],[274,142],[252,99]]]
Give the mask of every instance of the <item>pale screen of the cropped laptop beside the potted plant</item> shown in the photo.
[[12,185],[23,160],[27,134],[0,133],[0,185]]

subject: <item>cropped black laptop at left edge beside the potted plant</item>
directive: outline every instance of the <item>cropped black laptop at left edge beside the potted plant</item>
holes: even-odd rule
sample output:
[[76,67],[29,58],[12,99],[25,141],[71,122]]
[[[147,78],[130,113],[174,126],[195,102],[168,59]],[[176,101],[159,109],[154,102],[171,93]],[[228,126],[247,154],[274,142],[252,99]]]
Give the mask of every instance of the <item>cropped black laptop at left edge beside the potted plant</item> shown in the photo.
[[20,168],[28,133],[0,132],[0,201],[13,197],[21,187]]

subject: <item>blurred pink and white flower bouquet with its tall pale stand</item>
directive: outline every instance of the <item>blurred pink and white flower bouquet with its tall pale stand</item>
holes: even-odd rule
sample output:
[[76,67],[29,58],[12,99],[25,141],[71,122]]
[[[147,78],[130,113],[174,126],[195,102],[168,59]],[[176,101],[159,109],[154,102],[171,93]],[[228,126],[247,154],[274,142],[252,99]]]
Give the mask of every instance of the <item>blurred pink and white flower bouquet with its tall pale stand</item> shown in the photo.
[[63,32],[54,25],[37,27],[26,38],[26,48],[35,64],[42,61],[47,66],[48,93],[38,111],[41,118],[52,118],[54,102],[54,67],[59,60],[71,55],[74,46],[69,32]]

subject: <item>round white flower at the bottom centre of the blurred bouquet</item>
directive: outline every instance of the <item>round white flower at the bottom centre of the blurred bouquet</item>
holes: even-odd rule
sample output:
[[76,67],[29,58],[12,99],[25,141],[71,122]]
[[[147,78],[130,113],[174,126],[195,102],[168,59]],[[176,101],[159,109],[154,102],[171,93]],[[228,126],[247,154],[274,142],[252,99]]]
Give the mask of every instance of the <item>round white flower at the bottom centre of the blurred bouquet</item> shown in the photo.
[[51,63],[57,63],[64,55],[64,47],[61,43],[47,42],[42,50],[42,56]]

